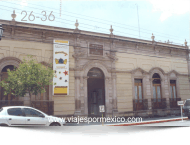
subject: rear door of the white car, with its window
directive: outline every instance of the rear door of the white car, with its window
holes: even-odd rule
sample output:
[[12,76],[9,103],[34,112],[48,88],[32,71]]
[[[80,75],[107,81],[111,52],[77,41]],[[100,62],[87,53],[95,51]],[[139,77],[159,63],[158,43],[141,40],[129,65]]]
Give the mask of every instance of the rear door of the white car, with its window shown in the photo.
[[25,117],[21,108],[7,109],[6,120],[11,126],[25,126]]

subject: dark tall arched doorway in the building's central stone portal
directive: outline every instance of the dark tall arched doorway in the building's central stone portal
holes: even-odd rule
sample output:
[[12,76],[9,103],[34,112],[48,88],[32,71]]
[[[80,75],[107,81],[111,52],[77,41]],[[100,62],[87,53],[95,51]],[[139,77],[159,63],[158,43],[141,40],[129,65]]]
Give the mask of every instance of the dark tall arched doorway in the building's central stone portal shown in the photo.
[[[101,117],[99,105],[105,105],[105,77],[102,70],[92,68],[87,75],[88,81],[88,116]],[[106,108],[106,107],[105,107]],[[104,113],[105,116],[105,113]]]

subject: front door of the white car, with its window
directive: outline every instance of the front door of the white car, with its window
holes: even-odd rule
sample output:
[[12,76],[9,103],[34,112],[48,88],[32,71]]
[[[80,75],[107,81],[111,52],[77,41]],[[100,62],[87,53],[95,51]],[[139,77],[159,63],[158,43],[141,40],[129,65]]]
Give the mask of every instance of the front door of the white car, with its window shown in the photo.
[[[27,126],[45,126],[47,124],[47,118],[45,115],[37,110],[31,108],[23,108],[25,114],[25,120]],[[44,116],[44,117],[41,117]]]

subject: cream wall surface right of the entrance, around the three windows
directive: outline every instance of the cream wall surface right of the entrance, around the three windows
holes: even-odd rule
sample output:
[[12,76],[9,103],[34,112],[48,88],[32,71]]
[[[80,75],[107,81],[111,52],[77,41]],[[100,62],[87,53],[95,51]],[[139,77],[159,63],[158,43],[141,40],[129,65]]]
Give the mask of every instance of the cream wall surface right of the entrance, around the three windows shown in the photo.
[[[168,73],[171,70],[175,70],[179,74],[188,74],[187,60],[179,57],[159,58],[160,56],[152,56],[155,57],[127,53],[116,53],[116,57],[118,58],[118,61],[115,62],[116,71],[126,71],[125,73],[117,73],[117,105],[119,112],[133,111],[133,85],[131,78],[132,75],[129,71],[136,68],[141,68],[146,72],[149,72],[152,68],[159,67],[163,69],[165,73]],[[188,77],[183,75],[179,75],[178,77],[180,90],[180,96],[178,97],[181,97],[182,100],[185,100],[187,98],[190,98],[190,87]],[[147,82],[150,81],[148,78],[149,76],[147,76]],[[167,77],[165,79],[165,81],[167,81]],[[146,94],[148,95],[147,91],[150,92],[150,84],[147,83],[146,85]],[[170,90],[164,92],[165,96],[168,96],[169,91]],[[149,97],[144,96],[144,98]]]

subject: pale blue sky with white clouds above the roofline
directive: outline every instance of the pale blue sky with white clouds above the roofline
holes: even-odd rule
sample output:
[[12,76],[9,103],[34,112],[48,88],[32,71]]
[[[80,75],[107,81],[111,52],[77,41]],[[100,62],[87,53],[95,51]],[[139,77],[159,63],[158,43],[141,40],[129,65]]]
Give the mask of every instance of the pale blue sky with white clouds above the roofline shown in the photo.
[[[85,31],[109,34],[112,25],[114,35],[151,40],[153,33],[156,41],[169,40],[179,45],[184,44],[185,39],[188,45],[190,42],[190,0],[0,1],[0,19],[11,20],[13,10],[19,22],[75,29],[78,19],[79,29]],[[42,11],[46,12],[46,21],[41,20],[45,19],[45,12]],[[29,20],[31,12],[35,16],[35,20],[30,17],[33,21]],[[48,19],[51,12],[55,16],[54,21]]]

